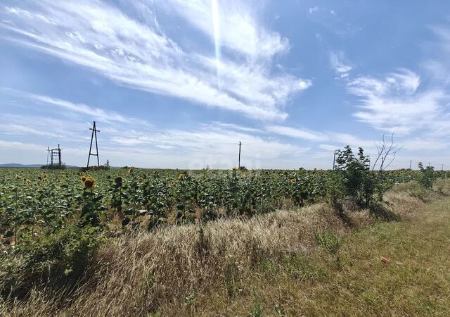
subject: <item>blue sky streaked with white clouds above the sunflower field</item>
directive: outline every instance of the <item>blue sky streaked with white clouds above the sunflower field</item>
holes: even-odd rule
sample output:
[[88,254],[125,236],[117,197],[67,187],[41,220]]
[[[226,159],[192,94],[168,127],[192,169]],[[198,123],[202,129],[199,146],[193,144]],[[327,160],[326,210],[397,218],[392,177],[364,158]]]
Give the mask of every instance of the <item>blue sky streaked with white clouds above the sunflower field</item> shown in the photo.
[[[1,0],[0,163],[450,168],[450,2]],[[389,139],[389,137],[388,137]],[[95,159],[95,158],[94,158]]]

